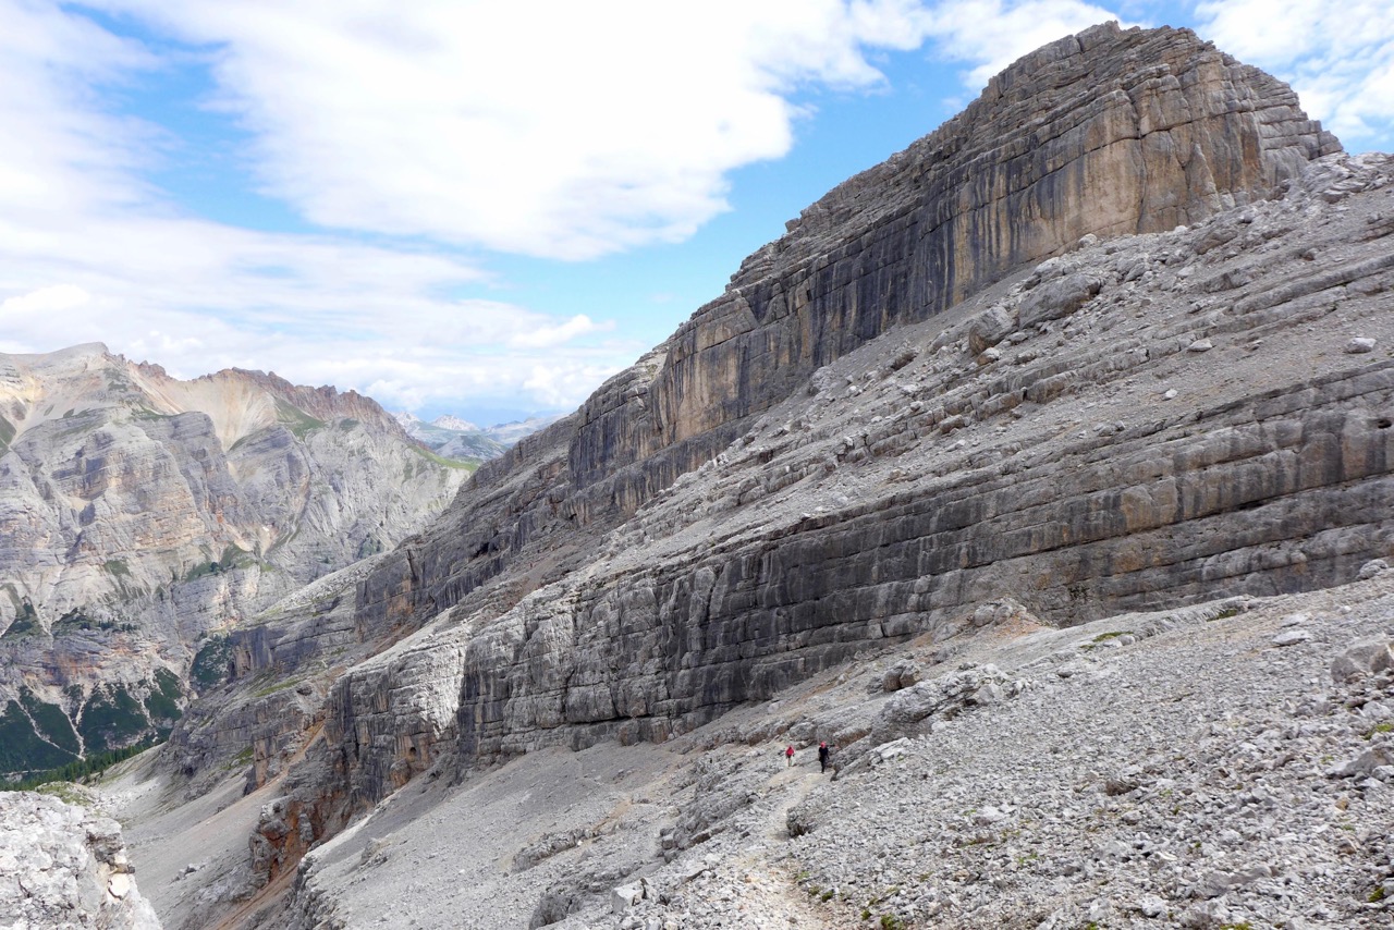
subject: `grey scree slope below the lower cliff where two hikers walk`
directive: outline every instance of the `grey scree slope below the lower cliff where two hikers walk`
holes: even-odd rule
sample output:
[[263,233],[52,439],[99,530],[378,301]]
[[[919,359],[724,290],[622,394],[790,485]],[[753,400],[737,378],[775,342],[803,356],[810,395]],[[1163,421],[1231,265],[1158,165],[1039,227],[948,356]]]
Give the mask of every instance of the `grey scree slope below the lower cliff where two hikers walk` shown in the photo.
[[305,857],[290,926],[1387,927],[1394,572],[1363,573],[988,605],[661,746],[432,772]]

